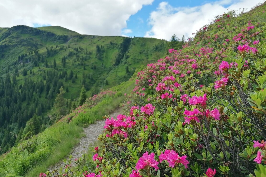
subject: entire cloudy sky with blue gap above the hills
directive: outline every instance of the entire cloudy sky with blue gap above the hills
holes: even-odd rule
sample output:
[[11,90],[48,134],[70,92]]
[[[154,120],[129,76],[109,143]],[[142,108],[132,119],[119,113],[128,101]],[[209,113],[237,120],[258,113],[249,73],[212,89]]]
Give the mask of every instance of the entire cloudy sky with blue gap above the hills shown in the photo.
[[0,27],[61,26],[80,34],[192,37],[217,15],[246,11],[265,0],[5,0],[0,1]]

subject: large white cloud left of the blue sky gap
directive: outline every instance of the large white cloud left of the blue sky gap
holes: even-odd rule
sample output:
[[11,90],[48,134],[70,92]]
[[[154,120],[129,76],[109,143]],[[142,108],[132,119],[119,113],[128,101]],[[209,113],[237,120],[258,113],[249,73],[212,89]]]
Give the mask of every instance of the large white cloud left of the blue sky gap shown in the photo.
[[127,20],[154,0],[5,0],[0,27],[51,24],[81,34],[120,36]]

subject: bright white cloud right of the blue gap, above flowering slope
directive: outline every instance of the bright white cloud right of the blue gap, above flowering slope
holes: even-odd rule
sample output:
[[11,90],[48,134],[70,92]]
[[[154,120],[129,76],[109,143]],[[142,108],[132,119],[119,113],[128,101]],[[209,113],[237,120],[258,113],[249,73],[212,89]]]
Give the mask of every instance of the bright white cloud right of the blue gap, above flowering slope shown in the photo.
[[[151,29],[146,32],[145,37],[170,40],[173,34],[181,39],[192,36],[202,26],[214,19],[215,16],[223,14],[228,10],[238,10],[253,6],[263,0],[221,0],[206,3],[196,7],[172,7],[167,2],[161,2],[156,11],[151,12],[149,24]],[[227,5],[227,7],[224,7]],[[229,5],[229,6],[228,6]]]

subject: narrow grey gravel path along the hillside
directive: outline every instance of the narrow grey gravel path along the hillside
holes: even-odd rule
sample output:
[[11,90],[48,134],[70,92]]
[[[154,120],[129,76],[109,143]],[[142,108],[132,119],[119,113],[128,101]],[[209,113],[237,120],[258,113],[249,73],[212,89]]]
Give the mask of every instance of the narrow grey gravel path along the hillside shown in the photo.
[[[122,108],[116,109],[113,113],[110,114],[110,117],[117,117],[117,115],[122,113]],[[91,144],[93,144],[98,136],[103,132],[103,126],[105,125],[105,120],[98,120],[95,121],[94,124],[89,125],[87,128],[83,128],[84,133],[86,134],[84,137],[80,139],[80,142],[73,148],[72,150],[72,159],[80,158],[88,151],[88,148]],[[70,155],[70,154],[69,154]],[[69,157],[68,155],[68,157]],[[68,160],[69,158],[67,158]],[[48,171],[52,172],[53,170],[57,169],[60,170],[65,164],[63,161],[56,163],[53,166],[48,168]]]

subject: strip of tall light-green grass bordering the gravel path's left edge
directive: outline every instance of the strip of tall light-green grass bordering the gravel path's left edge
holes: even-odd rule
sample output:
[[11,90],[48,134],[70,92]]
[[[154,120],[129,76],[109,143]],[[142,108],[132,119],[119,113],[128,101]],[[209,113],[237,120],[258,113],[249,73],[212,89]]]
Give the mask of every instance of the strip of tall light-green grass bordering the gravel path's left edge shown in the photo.
[[[80,113],[71,123],[69,134],[61,138],[61,142],[54,146],[51,155],[47,159],[36,163],[27,170],[26,177],[39,176],[41,172],[47,171],[48,167],[56,164],[70,154],[72,148],[79,142],[82,127],[92,124],[95,120],[102,119],[102,116],[113,112],[125,99],[124,93],[130,92],[134,87],[134,80],[123,82],[119,86],[113,87],[112,91],[117,91],[114,96],[110,96],[98,103],[95,107],[88,109],[86,113]],[[68,128],[68,127],[66,127]]]

